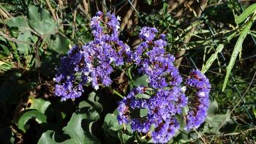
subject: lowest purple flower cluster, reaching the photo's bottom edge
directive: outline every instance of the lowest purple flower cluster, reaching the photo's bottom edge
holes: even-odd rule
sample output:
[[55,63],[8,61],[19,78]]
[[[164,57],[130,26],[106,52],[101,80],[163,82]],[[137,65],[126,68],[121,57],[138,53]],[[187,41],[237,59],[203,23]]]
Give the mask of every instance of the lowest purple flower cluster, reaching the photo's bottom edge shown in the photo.
[[178,87],[159,89],[149,100],[148,118],[154,126],[151,132],[154,143],[167,143],[176,134],[180,128],[176,115],[181,114],[181,108],[186,105],[187,97]]

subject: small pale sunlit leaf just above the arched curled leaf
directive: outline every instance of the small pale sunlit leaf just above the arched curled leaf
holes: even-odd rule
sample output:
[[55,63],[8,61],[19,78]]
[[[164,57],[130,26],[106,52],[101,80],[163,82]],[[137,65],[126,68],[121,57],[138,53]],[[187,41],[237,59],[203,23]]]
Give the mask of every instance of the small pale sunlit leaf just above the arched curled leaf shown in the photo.
[[34,109],[34,110],[38,110],[41,113],[45,113],[45,110],[49,107],[50,102],[49,101],[45,101],[44,99],[29,99],[29,102],[31,102],[31,106],[29,107],[29,109]]

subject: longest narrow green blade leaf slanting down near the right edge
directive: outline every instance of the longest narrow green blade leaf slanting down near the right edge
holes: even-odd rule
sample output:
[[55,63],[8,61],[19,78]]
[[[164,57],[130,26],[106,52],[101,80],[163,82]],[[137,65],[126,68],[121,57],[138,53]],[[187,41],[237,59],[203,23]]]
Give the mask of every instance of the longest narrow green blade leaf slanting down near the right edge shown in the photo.
[[244,29],[241,31],[241,34],[238,37],[235,48],[234,48],[233,53],[230,58],[230,63],[227,66],[227,72],[226,72],[225,80],[223,83],[222,91],[224,91],[227,86],[227,80],[228,80],[228,77],[230,77],[230,72],[236,62],[238,53],[240,53],[239,56],[241,57],[242,45],[243,45],[246,35],[249,33],[249,29],[251,29],[251,27],[252,27],[252,23],[253,23],[253,20],[250,20],[249,23],[246,23],[246,26],[244,26]]

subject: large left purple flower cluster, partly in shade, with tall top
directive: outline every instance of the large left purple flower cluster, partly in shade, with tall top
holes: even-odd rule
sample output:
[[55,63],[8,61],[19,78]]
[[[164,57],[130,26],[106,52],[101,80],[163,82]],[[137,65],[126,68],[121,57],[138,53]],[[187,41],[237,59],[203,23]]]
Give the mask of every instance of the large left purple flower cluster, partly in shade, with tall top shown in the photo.
[[[108,22],[103,21],[103,17]],[[97,90],[99,86],[110,86],[110,74],[113,67],[130,61],[129,46],[118,39],[120,23],[115,15],[102,15],[97,12],[91,20],[91,30],[94,39],[69,50],[68,56],[61,58],[61,65],[56,75],[56,95],[61,100],[75,99],[81,96],[83,84],[91,83]]]

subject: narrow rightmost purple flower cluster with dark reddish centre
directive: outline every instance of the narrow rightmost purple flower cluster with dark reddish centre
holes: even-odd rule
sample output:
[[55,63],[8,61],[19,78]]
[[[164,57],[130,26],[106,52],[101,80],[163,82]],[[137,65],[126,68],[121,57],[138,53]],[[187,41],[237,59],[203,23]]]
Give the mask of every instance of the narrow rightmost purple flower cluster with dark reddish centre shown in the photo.
[[[184,129],[197,129],[206,118],[207,110],[210,104],[209,92],[211,84],[206,75],[203,75],[198,69],[190,72],[186,85],[190,90],[196,90],[195,96],[189,99],[189,113],[186,117],[187,125]],[[188,90],[189,92],[189,90]],[[192,92],[191,92],[192,93]]]

